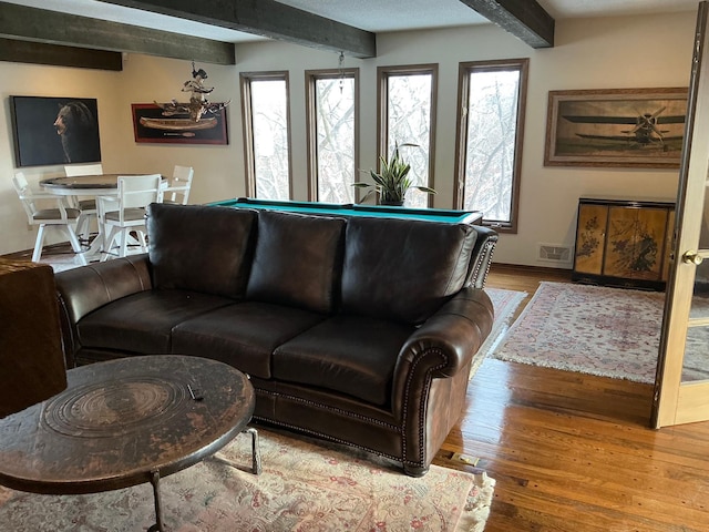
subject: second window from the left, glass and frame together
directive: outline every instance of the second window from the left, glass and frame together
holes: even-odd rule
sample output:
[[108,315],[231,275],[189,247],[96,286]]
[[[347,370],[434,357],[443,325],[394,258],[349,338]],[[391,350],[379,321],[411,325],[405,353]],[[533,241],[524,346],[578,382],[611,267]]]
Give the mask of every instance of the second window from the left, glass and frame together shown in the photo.
[[308,197],[354,203],[359,69],[307,71]]

